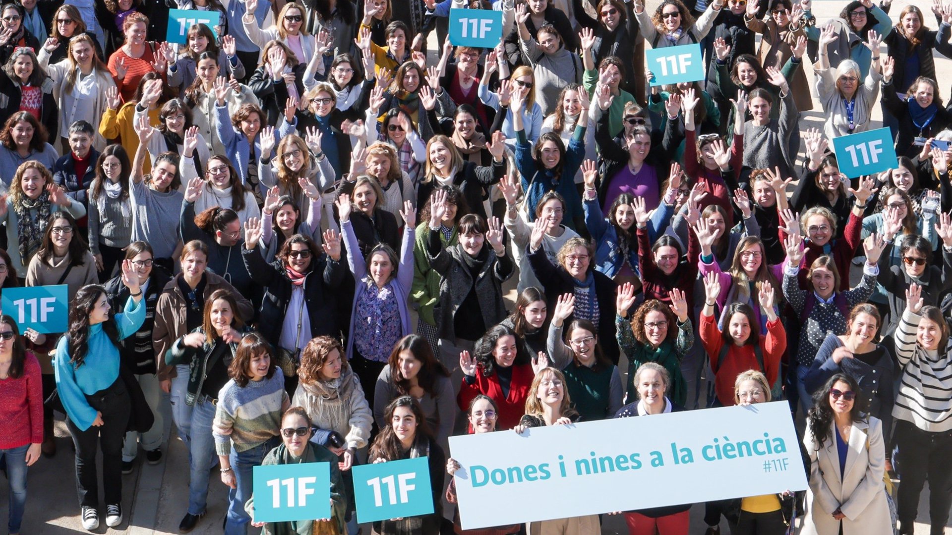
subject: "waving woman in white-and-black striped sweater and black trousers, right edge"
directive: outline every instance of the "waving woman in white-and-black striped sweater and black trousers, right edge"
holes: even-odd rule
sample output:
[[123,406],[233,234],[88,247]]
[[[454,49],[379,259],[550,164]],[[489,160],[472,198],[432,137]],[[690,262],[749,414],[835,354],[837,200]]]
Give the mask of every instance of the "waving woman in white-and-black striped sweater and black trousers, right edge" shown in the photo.
[[[952,466],[942,456],[952,442],[952,379],[937,373],[952,366],[949,326],[942,310],[923,305],[919,285],[913,283],[905,290],[905,303],[902,323],[896,329],[896,358],[902,366],[902,382],[893,408],[894,440],[899,446],[897,465],[902,469],[903,484],[897,499],[899,522],[902,533],[912,531],[922,486],[928,480],[930,533],[939,535],[948,522],[952,503]],[[937,490],[935,496],[933,487]]]

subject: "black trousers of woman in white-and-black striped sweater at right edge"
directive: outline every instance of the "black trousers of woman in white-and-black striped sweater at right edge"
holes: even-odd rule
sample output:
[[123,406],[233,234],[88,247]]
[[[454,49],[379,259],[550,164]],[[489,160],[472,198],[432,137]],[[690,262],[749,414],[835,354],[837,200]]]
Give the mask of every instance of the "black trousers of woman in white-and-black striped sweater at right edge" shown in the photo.
[[899,485],[899,522],[902,533],[912,533],[919,495],[929,481],[929,523],[932,535],[942,535],[952,505],[952,431],[929,432],[917,426],[896,420],[894,432],[902,465],[902,483]]

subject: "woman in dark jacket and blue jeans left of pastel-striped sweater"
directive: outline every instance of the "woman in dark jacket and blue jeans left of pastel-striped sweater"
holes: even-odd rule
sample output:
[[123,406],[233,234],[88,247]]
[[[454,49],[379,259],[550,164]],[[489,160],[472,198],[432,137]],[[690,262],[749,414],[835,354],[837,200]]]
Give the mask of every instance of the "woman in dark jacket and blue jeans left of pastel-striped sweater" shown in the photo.
[[[188,533],[205,516],[208,479],[215,456],[212,425],[218,396],[228,383],[228,363],[235,358],[245,322],[238,315],[237,296],[216,289],[205,300],[201,327],[179,337],[165,352],[169,366],[188,366],[185,404],[191,406],[188,427],[188,511],[179,531]],[[225,474],[227,477],[227,474]]]

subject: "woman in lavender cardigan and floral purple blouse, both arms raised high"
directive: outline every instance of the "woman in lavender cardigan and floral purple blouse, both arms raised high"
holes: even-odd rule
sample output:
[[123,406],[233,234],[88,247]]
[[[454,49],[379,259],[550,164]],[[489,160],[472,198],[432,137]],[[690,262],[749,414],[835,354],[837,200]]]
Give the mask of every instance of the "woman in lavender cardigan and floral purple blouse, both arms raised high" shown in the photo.
[[407,224],[400,256],[387,244],[377,244],[370,248],[365,260],[350,223],[350,196],[342,194],[335,206],[341,218],[341,237],[347,244],[347,265],[357,282],[347,336],[347,360],[360,377],[372,405],[374,386],[387,366],[390,349],[413,331],[407,298],[413,283],[416,209],[407,201],[400,211]]

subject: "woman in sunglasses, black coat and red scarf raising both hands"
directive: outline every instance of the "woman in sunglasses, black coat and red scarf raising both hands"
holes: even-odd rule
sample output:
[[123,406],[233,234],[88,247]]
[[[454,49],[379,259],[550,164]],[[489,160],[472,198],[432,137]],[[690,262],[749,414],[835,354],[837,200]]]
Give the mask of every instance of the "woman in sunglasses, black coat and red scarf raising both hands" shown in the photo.
[[[261,222],[248,220],[242,259],[251,280],[265,290],[260,330],[275,350],[288,352],[298,362],[308,340],[320,335],[340,337],[344,331],[338,312],[339,287],[347,273],[341,264],[341,240],[327,230],[322,255],[310,238],[294,234],[268,264],[259,246],[261,234]],[[287,384],[293,391],[294,379],[288,377]]]

